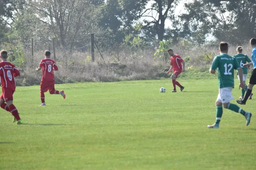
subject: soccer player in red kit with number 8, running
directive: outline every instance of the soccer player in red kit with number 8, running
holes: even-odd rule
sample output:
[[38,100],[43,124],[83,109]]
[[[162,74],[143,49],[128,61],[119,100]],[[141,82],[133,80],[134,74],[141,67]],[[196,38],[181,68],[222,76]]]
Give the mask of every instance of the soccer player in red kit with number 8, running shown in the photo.
[[44,93],[49,90],[50,94],[61,94],[63,98],[66,98],[66,95],[64,94],[64,91],[57,91],[55,90],[55,81],[54,81],[54,73],[53,71],[58,71],[58,66],[56,65],[55,61],[50,59],[51,57],[51,52],[50,51],[45,51],[44,52],[45,59],[42,59],[39,67],[36,69],[36,71],[40,71],[42,69],[43,75],[41,79],[41,84],[40,84],[40,96],[41,96],[41,102],[42,104],[40,106],[45,106],[45,101],[44,101]]

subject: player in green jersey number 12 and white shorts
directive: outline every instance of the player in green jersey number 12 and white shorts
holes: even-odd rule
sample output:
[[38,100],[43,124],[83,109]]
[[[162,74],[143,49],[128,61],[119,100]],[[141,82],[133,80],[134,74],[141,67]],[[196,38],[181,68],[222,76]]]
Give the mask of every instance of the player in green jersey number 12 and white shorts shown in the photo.
[[[212,62],[212,66],[209,69],[211,74],[215,74],[218,68],[218,84],[219,94],[216,104],[216,122],[213,125],[208,125],[208,128],[219,128],[221,116],[223,113],[222,105],[224,108],[230,109],[237,113],[241,113],[246,119],[246,125],[250,123],[252,113],[246,112],[239,108],[238,105],[230,103],[230,100],[234,99],[232,96],[232,90],[234,88],[234,69],[238,71],[239,78],[243,78],[243,71],[235,58],[227,54],[228,44],[227,42],[221,42],[219,46],[220,55],[216,56]],[[245,84],[240,82],[239,88],[245,88]]]

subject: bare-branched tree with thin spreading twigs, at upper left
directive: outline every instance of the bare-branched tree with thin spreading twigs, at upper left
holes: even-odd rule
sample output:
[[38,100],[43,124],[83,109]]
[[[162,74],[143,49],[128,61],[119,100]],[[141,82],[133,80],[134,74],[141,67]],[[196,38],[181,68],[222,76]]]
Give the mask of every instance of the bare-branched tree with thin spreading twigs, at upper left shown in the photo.
[[99,11],[90,0],[29,0],[28,5],[65,48],[73,48],[77,40],[88,36],[96,26]]

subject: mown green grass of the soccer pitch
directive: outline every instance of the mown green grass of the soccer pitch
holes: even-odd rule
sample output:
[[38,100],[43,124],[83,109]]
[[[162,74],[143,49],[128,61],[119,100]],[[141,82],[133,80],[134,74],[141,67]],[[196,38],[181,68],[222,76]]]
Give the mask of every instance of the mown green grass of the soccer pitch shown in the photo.
[[[254,119],[246,127],[224,109],[220,129],[208,129],[217,78],[179,81],[182,93],[171,92],[169,79],[56,85],[67,98],[46,93],[46,107],[38,106],[39,86],[17,87],[24,124],[1,109],[0,169],[255,170]],[[255,101],[242,108],[255,111]]]

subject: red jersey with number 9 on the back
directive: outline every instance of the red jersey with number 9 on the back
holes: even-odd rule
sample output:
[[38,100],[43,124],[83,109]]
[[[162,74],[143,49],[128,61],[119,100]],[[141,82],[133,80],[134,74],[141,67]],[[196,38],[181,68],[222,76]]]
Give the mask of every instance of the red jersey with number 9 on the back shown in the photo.
[[20,71],[10,62],[0,62],[0,78],[2,88],[10,88],[15,91],[16,84],[14,77],[20,75]]

